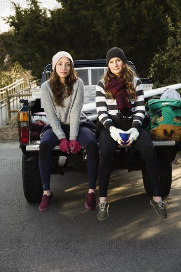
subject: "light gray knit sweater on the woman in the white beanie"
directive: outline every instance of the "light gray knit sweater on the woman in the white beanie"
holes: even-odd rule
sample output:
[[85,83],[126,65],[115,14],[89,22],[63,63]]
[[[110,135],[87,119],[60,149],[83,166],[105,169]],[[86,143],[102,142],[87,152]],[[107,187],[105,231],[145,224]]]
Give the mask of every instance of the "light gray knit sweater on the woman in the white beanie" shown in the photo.
[[41,86],[41,98],[48,123],[58,139],[65,138],[61,124],[67,124],[70,125],[70,140],[77,140],[79,124],[87,121],[87,116],[82,112],[84,103],[84,83],[82,79],[77,79],[71,95],[64,99],[65,107],[55,106],[48,81]]

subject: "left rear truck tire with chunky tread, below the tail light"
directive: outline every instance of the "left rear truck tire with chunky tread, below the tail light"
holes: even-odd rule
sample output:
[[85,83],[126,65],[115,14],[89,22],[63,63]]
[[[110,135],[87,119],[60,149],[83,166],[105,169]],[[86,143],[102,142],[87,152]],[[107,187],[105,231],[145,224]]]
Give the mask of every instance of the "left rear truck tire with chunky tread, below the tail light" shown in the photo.
[[28,163],[28,159],[29,157],[23,154],[22,176],[24,195],[27,202],[41,202],[43,186],[39,170],[39,161],[38,158],[35,158],[31,163]]

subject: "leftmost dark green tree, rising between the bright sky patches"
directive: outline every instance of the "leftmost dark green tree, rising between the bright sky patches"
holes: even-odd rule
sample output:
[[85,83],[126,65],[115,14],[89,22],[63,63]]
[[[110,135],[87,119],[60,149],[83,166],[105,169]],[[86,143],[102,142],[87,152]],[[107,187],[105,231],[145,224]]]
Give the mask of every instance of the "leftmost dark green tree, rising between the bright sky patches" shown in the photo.
[[40,78],[43,67],[49,59],[48,16],[41,10],[37,0],[28,0],[29,7],[14,4],[15,15],[7,22],[14,29],[12,62],[18,61],[26,70],[31,70],[35,78]]

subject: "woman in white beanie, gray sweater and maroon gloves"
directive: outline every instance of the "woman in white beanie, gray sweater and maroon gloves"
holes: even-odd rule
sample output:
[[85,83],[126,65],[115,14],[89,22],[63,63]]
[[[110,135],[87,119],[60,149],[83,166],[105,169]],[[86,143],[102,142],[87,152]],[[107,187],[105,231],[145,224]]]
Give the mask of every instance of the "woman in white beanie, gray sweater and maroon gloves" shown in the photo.
[[91,131],[95,125],[82,112],[84,83],[78,77],[68,52],[60,51],[53,56],[52,69],[50,79],[41,86],[48,125],[43,129],[40,141],[39,166],[44,194],[39,210],[47,211],[53,197],[50,190],[51,151],[56,145],[62,152],[72,154],[79,152],[81,145],[87,149],[89,190],[85,206],[94,210],[99,153],[97,140]]

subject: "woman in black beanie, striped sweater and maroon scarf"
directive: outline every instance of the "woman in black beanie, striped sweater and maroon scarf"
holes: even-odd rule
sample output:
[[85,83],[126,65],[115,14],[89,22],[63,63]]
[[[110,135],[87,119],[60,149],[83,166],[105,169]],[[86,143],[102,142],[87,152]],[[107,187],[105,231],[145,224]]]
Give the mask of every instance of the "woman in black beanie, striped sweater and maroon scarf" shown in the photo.
[[161,199],[159,166],[156,151],[149,134],[141,127],[144,118],[144,94],[141,81],[127,65],[127,57],[121,48],[113,47],[106,55],[107,72],[96,86],[96,110],[103,128],[99,137],[100,161],[98,168],[99,220],[108,217],[107,189],[111,175],[111,162],[118,144],[123,145],[121,133],[129,134],[127,146],[138,150],[145,162],[152,186],[150,204],[162,218],[167,218]]

